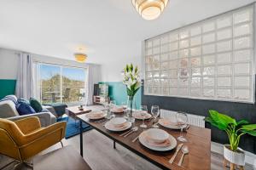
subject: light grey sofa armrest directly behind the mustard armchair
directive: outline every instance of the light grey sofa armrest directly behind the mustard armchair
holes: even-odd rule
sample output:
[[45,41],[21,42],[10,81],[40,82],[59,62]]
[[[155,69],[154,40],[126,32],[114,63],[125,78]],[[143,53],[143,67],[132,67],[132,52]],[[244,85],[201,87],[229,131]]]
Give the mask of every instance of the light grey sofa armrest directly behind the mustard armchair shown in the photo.
[[23,115],[23,116],[13,116],[13,117],[9,117],[8,119],[10,121],[17,121],[17,120],[24,119],[26,117],[31,117],[31,116],[37,116],[41,122],[42,127],[48,127],[49,125],[56,122],[56,117],[49,112],[40,112],[35,114]]

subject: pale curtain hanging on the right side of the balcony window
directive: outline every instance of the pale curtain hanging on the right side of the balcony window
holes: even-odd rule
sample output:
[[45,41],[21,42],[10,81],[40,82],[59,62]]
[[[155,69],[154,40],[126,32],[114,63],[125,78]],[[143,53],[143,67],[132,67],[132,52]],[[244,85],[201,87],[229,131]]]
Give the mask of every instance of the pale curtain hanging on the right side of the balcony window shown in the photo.
[[94,84],[98,83],[101,79],[101,70],[100,65],[88,65],[88,73],[86,79],[86,96],[85,96],[85,104],[93,105],[93,90]]

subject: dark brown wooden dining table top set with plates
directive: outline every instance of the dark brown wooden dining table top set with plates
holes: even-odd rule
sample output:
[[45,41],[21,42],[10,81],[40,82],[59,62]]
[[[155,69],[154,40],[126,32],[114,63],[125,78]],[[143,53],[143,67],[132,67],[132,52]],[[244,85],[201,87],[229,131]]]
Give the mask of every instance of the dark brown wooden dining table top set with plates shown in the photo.
[[[136,120],[134,126],[139,127],[139,130],[136,133],[131,133],[131,135],[124,138],[119,136],[120,133],[108,131],[103,126],[106,122],[90,121],[85,117],[84,114],[79,115],[77,117],[79,118],[79,120],[87,122],[91,127],[95,128],[98,132],[103,133],[104,135],[108,136],[108,138],[113,139],[117,143],[123,145],[128,150],[135,152],[138,156],[142,156],[144,159],[152,162],[154,165],[162,169],[207,170],[211,168],[210,129],[190,126],[188,131],[186,133],[183,133],[183,135],[189,140],[189,142],[183,143],[183,145],[189,146],[189,155],[184,156],[182,167],[178,167],[177,162],[182,156],[181,150],[178,152],[176,159],[171,164],[168,161],[174,154],[175,149],[166,152],[158,152],[154,150],[149,150],[148,148],[144,147],[143,144],[140,144],[138,139],[136,142],[132,142],[132,139],[135,139],[137,135],[143,132],[143,128],[139,127],[139,125],[142,124],[142,121]],[[148,127],[151,127],[153,121],[145,121],[145,123],[148,125]],[[175,137],[176,139],[180,134],[179,130],[172,130],[166,127],[160,128],[172,134],[172,136]],[[177,144],[179,143],[180,142],[177,141]]]

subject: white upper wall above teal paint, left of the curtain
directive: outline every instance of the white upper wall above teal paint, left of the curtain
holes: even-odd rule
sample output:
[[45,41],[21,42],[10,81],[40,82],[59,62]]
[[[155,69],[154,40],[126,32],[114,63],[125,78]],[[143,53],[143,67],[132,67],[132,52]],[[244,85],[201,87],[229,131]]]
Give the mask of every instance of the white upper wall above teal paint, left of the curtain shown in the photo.
[[17,67],[17,51],[0,48],[0,79],[16,79]]

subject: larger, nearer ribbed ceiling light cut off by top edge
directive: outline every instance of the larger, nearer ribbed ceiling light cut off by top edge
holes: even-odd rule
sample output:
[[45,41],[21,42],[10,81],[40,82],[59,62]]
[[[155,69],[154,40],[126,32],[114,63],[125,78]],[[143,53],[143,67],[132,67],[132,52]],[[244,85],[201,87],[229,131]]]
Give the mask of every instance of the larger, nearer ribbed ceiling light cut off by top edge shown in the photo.
[[168,0],[131,0],[137,12],[145,20],[157,19],[163,12]]

